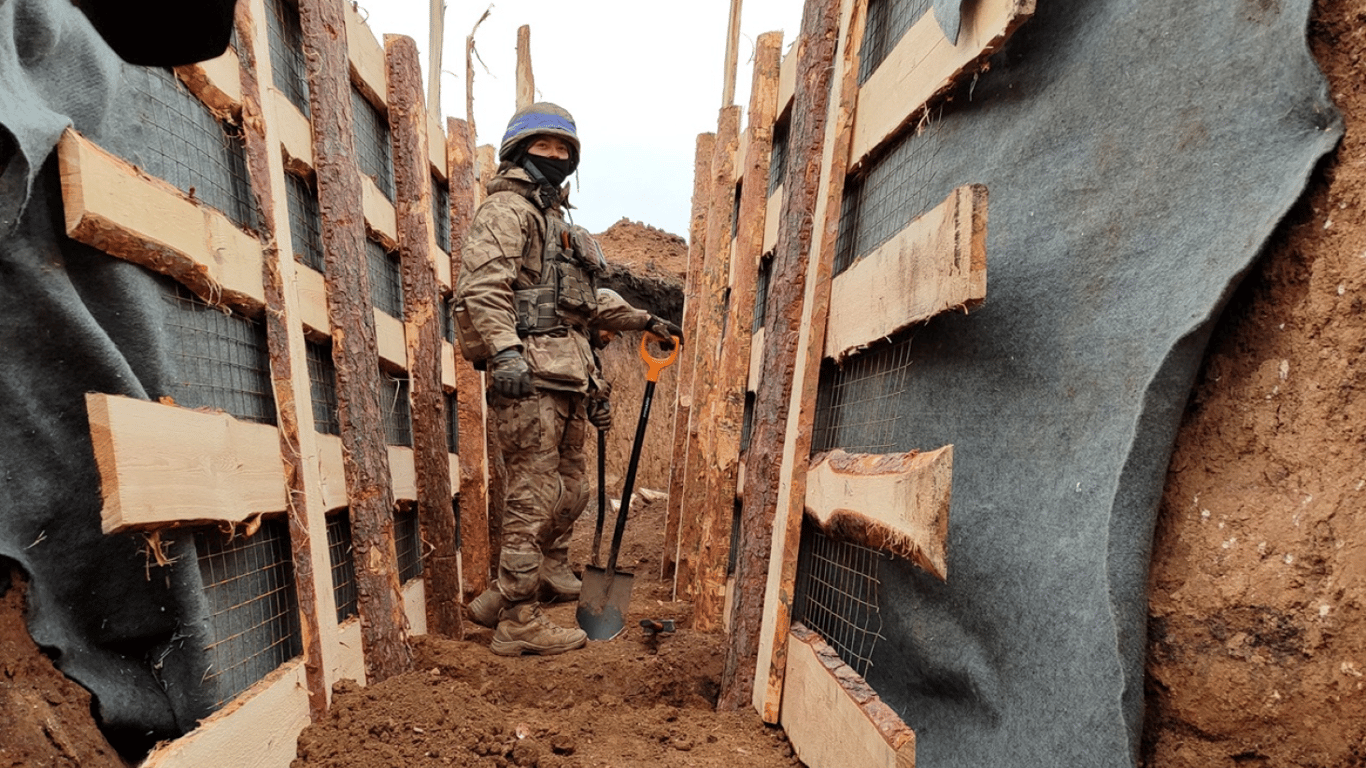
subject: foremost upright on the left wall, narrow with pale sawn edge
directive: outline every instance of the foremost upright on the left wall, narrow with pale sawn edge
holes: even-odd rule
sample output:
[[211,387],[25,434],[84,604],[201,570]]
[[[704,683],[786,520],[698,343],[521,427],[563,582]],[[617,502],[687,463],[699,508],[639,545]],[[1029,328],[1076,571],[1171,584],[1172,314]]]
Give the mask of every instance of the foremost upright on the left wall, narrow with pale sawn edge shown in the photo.
[[[281,186],[284,159],[279,150],[279,135],[261,113],[262,93],[257,77],[260,61],[255,51],[268,51],[269,41],[264,26],[258,27],[253,23],[253,8],[255,5],[249,3],[239,3],[236,7],[242,141],[251,179],[251,193],[255,195],[257,209],[261,212],[261,227],[265,232],[273,234],[265,239],[262,253],[265,266],[262,284],[268,307],[262,323],[266,331],[266,348],[270,354],[270,384],[275,392],[280,462],[284,470],[290,553],[294,563],[295,594],[299,603],[299,635],[303,649],[309,713],[311,719],[317,720],[326,713],[328,708],[326,656],[337,649],[331,637],[324,638],[320,616],[335,616],[336,601],[331,589],[332,563],[328,548],[313,545],[314,541],[326,543],[326,521],[321,512],[316,517],[309,514],[313,504],[307,488],[313,480],[313,467],[307,466],[303,456],[307,451],[314,450],[313,436],[316,432],[311,424],[303,424],[311,420],[301,417],[310,413],[311,387],[303,329],[296,320],[298,295],[287,290],[284,277],[294,273],[294,254],[288,249],[281,251],[279,247],[280,242],[290,241],[290,208]],[[295,109],[291,112],[298,115]],[[279,195],[275,194],[276,189],[280,190]],[[281,221],[285,225],[280,227]],[[305,403],[302,410],[299,403]]]

